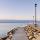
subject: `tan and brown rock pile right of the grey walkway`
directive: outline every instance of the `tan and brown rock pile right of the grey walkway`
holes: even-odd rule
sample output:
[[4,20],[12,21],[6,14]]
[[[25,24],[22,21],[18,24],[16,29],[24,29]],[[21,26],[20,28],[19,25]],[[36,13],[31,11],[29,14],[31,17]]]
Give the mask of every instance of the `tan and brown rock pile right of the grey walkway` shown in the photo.
[[29,40],[40,40],[40,28],[35,25],[28,25],[25,27],[25,31]]

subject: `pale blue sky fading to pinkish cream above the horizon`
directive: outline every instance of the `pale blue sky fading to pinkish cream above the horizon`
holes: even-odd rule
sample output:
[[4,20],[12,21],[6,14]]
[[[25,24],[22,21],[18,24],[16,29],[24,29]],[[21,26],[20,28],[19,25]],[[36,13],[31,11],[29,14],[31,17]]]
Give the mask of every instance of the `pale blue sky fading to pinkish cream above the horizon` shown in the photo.
[[0,0],[0,20],[33,20],[35,2],[40,20],[40,0]]

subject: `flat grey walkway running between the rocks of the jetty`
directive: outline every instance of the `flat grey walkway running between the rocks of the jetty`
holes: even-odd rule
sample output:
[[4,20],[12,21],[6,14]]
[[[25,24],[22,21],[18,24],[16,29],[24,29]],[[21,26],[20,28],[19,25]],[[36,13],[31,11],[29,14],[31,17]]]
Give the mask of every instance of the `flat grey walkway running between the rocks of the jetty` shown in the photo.
[[14,40],[28,40],[24,28],[18,28],[13,36]]

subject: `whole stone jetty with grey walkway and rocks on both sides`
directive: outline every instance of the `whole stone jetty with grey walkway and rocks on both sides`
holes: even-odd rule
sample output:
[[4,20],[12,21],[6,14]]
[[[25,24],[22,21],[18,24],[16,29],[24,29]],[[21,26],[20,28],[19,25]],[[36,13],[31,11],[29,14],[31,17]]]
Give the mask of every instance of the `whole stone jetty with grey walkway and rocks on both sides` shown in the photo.
[[29,24],[25,27],[14,28],[7,32],[6,37],[1,37],[0,40],[40,40],[40,27]]

